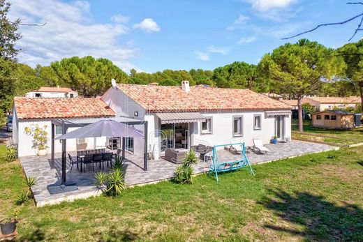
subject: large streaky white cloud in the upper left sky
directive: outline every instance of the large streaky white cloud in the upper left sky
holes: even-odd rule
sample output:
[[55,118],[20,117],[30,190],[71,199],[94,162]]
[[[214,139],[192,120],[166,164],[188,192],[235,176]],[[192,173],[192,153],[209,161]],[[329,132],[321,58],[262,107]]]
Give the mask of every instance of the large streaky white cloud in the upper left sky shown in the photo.
[[[71,56],[91,55],[113,61],[123,70],[137,68],[130,62],[138,49],[118,43],[127,33],[122,24],[92,22],[87,1],[65,3],[59,0],[13,0],[10,18],[27,23],[47,23],[44,27],[22,26],[20,61],[35,66],[47,65]],[[125,47],[124,47],[125,46]]]

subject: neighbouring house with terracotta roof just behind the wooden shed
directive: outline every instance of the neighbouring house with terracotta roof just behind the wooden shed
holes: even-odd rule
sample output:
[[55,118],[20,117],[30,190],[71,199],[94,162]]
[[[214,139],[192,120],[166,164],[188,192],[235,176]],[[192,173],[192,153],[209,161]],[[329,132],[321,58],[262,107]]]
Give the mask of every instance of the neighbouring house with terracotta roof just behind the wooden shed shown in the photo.
[[345,109],[353,107],[361,103],[360,97],[305,97],[302,103],[310,103],[316,107],[318,111],[332,110],[332,109]]

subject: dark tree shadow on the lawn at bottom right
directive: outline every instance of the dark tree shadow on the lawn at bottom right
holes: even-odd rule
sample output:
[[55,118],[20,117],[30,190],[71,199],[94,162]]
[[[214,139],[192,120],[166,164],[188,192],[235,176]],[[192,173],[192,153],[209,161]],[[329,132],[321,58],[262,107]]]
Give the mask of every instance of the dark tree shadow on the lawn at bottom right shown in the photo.
[[[293,195],[283,190],[270,192],[272,197],[264,197],[260,204],[290,225],[295,225],[280,227],[267,224],[265,227],[304,236],[307,240],[363,240],[363,210],[360,207],[354,204],[336,206],[309,192],[295,192]],[[302,229],[296,229],[296,225]]]

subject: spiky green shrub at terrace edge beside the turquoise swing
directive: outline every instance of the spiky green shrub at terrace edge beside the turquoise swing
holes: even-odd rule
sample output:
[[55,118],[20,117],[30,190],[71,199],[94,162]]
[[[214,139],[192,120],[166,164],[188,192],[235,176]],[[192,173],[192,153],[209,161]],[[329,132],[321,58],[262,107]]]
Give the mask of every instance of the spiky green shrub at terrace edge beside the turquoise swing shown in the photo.
[[198,161],[199,159],[193,150],[186,153],[182,165],[175,169],[175,182],[181,184],[193,183],[193,167],[191,165],[198,163]]

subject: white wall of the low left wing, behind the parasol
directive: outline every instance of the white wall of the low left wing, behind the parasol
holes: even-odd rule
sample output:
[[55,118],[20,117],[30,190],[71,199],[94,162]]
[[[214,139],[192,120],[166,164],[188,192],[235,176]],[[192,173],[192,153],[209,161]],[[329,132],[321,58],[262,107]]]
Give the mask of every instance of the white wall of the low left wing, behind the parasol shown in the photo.
[[[18,156],[34,156],[37,153],[37,150],[34,149],[33,146],[33,137],[27,135],[25,133],[25,127],[30,127],[31,125],[40,126],[43,128],[44,125],[47,126],[46,130],[48,133],[48,153],[52,152],[52,143],[51,143],[51,135],[52,135],[52,126],[51,121],[46,119],[20,119],[14,122],[14,125],[16,123],[16,126],[18,127],[18,130],[16,133],[13,133],[14,140],[18,140],[20,142],[17,142],[17,152]],[[77,128],[68,128],[67,132],[71,132],[72,130],[76,130]],[[17,137],[16,137],[17,136]],[[105,137],[97,137],[97,138],[86,138],[87,144],[85,146],[83,145],[77,145],[76,139],[67,139],[67,151],[77,151],[80,149],[97,149],[97,148],[103,148],[106,144],[106,138]],[[54,142],[54,151],[55,153],[61,152],[61,142],[59,140],[56,140]]]

